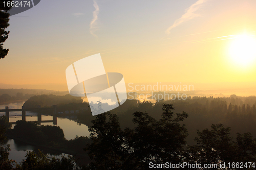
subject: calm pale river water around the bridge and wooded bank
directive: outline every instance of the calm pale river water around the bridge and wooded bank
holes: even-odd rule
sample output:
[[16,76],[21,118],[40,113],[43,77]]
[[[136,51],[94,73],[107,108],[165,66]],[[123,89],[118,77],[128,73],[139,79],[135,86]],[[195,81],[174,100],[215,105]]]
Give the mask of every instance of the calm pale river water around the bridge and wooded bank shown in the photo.
[[[21,109],[25,101],[12,102],[0,104],[0,109],[5,109],[6,106],[9,106],[9,109]],[[0,116],[5,115],[5,112],[0,112]],[[10,122],[16,122],[17,120],[22,119],[22,112],[10,112]],[[26,111],[26,120],[27,121],[37,121],[37,113]],[[52,120],[52,116],[43,116],[42,120]],[[70,140],[74,139],[77,136],[89,136],[88,127],[86,125],[79,125],[75,121],[70,120],[68,118],[59,118],[57,117],[57,125],[53,125],[53,123],[41,123],[41,125],[52,125],[59,126],[65,135],[65,138]],[[12,125],[12,128],[14,125]],[[25,159],[25,155],[27,151],[42,151],[43,153],[49,153],[50,155],[55,155],[56,157],[60,157],[62,153],[57,151],[50,151],[46,149],[41,149],[39,147],[35,147],[33,145],[29,145],[17,140],[9,139],[7,144],[10,144],[11,151],[9,152],[9,159],[15,160],[17,163],[20,163],[23,159]]]

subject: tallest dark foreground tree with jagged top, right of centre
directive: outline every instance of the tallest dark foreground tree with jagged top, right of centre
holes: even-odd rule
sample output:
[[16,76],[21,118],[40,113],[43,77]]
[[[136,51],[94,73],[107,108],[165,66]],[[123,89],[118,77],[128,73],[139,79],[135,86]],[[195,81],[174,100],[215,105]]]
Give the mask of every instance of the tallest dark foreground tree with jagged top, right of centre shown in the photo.
[[[126,169],[148,169],[153,163],[179,163],[183,160],[183,146],[188,135],[185,125],[180,125],[188,114],[174,113],[172,104],[162,105],[162,118],[157,121],[143,112],[135,112],[134,130],[126,129],[126,138],[130,146]],[[127,135],[129,134],[129,135]],[[127,166],[131,166],[127,168]]]

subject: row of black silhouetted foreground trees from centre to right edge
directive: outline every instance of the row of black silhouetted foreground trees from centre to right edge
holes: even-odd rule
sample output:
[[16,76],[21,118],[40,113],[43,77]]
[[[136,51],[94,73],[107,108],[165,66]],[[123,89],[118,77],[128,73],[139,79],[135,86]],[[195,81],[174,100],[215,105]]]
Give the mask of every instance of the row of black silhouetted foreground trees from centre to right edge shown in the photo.
[[146,112],[134,112],[135,128],[124,130],[115,114],[97,115],[89,129],[92,143],[84,149],[92,160],[87,169],[148,169],[150,163],[166,162],[218,164],[212,169],[221,169],[225,163],[228,169],[228,163],[255,162],[256,139],[250,133],[238,133],[234,139],[229,127],[212,124],[210,130],[198,130],[197,144],[189,146],[187,129],[181,124],[188,114],[174,113],[169,104],[163,104],[162,110],[159,120]]

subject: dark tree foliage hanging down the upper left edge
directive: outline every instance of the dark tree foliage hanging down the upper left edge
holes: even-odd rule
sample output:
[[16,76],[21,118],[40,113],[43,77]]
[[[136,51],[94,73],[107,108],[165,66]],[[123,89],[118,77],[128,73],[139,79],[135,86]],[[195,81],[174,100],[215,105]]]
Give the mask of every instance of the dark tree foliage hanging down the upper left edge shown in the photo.
[[11,9],[10,7],[4,6],[4,0],[0,1],[0,59],[5,58],[5,56],[8,54],[9,49],[6,49],[3,47],[4,42],[8,38],[8,34],[10,31],[5,31],[5,29],[10,25],[9,24],[9,17],[10,14],[8,11]]

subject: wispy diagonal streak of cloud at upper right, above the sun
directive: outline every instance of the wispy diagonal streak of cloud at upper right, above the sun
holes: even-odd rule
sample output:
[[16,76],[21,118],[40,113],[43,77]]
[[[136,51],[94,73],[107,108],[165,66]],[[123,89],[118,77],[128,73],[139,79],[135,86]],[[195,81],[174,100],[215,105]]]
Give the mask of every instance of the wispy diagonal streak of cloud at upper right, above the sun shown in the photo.
[[205,3],[206,1],[208,0],[198,0],[195,4],[191,5],[189,8],[186,9],[186,12],[185,14],[183,14],[181,16],[181,18],[179,19],[176,19],[174,21],[174,24],[172,26],[170,26],[166,31],[165,33],[166,34],[169,34],[170,33],[170,30],[172,30],[173,28],[179,26],[181,23],[185,22],[185,21],[188,21],[190,19],[193,19],[195,17],[198,17],[200,16],[199,14],[196,14],[195,12],[201,7],[201,5],[203,3]]

